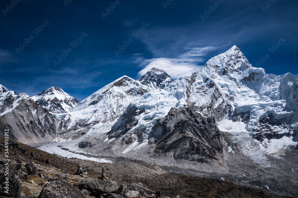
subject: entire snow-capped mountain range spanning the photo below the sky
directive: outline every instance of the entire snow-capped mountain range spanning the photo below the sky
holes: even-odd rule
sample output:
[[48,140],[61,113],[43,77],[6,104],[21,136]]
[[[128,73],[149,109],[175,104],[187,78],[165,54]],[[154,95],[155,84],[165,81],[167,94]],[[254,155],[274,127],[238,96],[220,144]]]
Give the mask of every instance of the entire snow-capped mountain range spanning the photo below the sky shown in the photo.
[[191,76],[173,80],[152,68],[138,80],[123,76],[81,102],[60,88],[29,97],[1,85],[0,130],[3,136],[11,129],[19,142],[56,142],[103,156],[224,167],[225,151],[237,148],[262,162],[262,153],[284,154],[297,144],[297,82],[291,73],[253,67],[233,46]]

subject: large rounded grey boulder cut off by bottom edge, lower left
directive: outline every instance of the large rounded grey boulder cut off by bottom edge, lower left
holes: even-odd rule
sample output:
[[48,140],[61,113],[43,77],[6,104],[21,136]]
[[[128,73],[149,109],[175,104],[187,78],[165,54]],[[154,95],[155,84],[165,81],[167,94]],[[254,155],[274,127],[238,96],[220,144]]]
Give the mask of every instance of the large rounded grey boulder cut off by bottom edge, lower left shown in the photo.
[[48,182],[38,198],[87,198],[82,191],[63,179]]

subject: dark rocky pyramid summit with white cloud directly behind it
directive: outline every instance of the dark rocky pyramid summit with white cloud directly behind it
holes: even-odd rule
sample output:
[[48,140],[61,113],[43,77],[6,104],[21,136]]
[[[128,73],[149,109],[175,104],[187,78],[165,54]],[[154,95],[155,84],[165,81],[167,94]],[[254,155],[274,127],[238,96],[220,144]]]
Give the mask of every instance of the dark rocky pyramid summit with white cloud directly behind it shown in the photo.
[[151,89],[163,89],[174,80],[164,70],[153,67],[138,81]]

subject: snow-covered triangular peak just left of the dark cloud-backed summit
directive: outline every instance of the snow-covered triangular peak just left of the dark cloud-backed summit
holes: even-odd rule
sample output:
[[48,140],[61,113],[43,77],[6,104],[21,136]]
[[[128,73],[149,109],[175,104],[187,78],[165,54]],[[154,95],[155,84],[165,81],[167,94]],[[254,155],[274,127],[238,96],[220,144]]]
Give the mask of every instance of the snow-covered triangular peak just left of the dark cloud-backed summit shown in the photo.
[[54,114],[67,123],[64,139],[75,139],[83,134],[98,134],[109,131],[114,122],[124,113],[130,102],[150,91],[145,85],[123,76],[91,94],[77,104],[69,113]]

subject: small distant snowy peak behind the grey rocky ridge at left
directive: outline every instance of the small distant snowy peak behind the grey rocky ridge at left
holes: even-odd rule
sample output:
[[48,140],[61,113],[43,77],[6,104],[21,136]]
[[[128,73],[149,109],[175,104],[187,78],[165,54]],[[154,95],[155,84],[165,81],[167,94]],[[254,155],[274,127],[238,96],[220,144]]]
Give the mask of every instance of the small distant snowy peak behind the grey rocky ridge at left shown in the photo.
[[54,86],[32,96],[32,99],[52,113],[70,112],[79,103],[77,99]]

